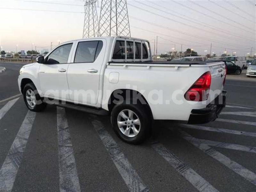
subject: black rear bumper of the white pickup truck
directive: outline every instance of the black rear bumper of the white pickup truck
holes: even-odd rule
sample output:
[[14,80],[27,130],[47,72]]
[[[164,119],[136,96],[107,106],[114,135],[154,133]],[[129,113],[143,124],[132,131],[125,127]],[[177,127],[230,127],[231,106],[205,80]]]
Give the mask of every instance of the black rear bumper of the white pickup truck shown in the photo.
[[221,110],[226,106],[226,91],[215,98],[214,104],[207,105],[206,108],[192,109],[188,119],[188,124],[204,124],[218,118]]

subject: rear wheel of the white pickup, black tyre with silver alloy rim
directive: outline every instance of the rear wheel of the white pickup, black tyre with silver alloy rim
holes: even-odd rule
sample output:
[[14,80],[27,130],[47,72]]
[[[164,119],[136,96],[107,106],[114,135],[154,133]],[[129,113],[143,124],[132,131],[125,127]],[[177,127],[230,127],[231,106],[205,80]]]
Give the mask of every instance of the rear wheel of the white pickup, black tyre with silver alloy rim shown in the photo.
[[127,143],[143,142],[150,131],[151,116],[142,104],[117,104],[111,112],[117,136]]

